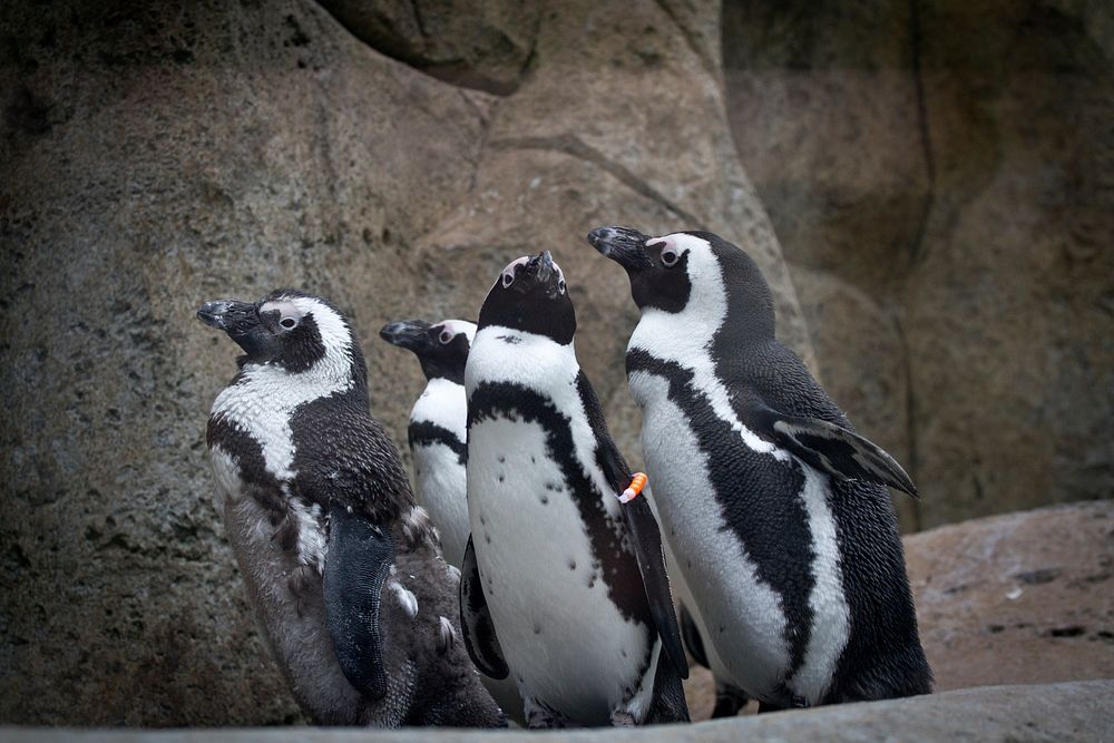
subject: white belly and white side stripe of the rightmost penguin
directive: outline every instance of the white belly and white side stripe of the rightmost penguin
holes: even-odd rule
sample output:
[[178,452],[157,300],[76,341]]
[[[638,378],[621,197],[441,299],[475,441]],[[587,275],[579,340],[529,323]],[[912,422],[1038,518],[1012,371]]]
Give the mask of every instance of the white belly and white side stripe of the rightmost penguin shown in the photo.
[[[760,578],[755,561],[727,524],[714,497],[711,468],[731,465],[712,461],[700,446],[693,421],[668,398],[666,380],[638,371],[629,381],[643,403],[643,452],[655,505],[716,654],[750,694],[761,697],[783,686],[810,704],[820,702],[847,644],[850,616],[836,522],[828,505],[828,476],[800,465],[803,487],[795,497],[804,507],[811,554],[786,550],[782,566],[786,574],[805,573],[812,578],[808,596],[812,617],[802,662],[790,674],[786,629],[795,633],[799,628],[786,627],[781,592],[794,587]],[[769,457],[771,466],[780,453],[754,452]],[[741,487],[745,489],[745,483]]]

